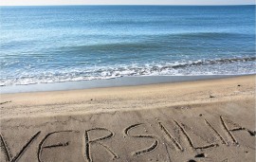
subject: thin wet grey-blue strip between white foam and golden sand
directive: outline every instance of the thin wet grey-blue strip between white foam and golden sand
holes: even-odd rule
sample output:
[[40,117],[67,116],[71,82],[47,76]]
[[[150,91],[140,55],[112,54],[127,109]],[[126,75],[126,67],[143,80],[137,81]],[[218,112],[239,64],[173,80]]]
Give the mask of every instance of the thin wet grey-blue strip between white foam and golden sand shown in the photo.
[[64,81],[49,83],[32,83],[26,85],[8,85],[1,86],[1,94],[15,93],[31,93],[31,92],[53,92],[53,91],[69,91],[107,87],[137,86],[150,85],[160,83],[174,83],[183,81],[207,81],[225,78],[234,78],[242,76],[253,76],[255,74],[243,75],[199,75],[199,76],[133,76],[120,77],[107,80],[91,80],[91,81]]

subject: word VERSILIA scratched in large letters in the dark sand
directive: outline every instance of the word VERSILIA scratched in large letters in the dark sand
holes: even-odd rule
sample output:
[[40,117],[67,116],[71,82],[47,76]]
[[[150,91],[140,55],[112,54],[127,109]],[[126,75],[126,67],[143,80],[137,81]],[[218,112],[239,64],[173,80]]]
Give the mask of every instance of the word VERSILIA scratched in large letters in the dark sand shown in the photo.
[[197,157],[205,157],[203,152],[209,149],[247,145],[237,138],[236,135],[240,132],[245,138],[255,137],[254,130],[222,116],[215,117],[214,122],[202,117],[198,125],[205,130],[203,134],[174,118],[168,122],[156,118],[154,124],[135,122],[122,126],[119,123],[118,129],[83,125],[84,127],[80,125],[78,129],[74,129],[74,126],[70,126],[72,129],[48,127],[44,131],[39,127],[30,136],[16,135],[15,138],[10,138],[2,131],[1,160],[24,161],[23,156],[29,155],[39,162],[70,161],[76,157],[89,162],[98,161],[99,158],[104,161],[122,161],[155,153],[158,159],[166,157],[166,161],[171,161],[172,156],[178,153],[200,151],[202,153],[197,154]]

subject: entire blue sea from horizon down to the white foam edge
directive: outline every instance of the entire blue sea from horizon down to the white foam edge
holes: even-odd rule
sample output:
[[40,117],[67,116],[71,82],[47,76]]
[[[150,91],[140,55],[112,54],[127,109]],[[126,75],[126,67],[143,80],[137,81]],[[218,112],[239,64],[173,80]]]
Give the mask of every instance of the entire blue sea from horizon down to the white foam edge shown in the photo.
[[255,73],[255,6],[0,8],[0,85]]

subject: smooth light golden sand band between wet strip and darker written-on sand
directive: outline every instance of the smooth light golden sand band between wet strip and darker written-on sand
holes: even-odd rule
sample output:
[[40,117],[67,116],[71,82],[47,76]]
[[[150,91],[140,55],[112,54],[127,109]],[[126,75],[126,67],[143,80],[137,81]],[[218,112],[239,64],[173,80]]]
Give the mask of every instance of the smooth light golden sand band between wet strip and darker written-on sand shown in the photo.
[[[255,96],[255,77],[256,75],[250,75],[216,80],[1,94],[1,105],[3,105],[1,116],[2,118],[24,117],[27,116],[27,109],[29,117],[33,117],[41,116],[41,113],[37,112],[38,110],[43,111],[43,116],[59,116],[65,115],[66,112],[80,114],[102,113],[109,110],[133,110],[131,104],[135,104],[133,107],[136,109],[159,108],[165,107],[168,99],[172,100],[171,103],[168,103],[171,107],[193,103],[203,104],[209,101],[222,102],[227,99],[239,100]],[[164,103],[161,103],[160,100],[164,100]],[[60,106],[64,106],[64,112],[59,111]],[[82,109],[82,107],[85,108]],[[9,112],[9,108],[11,110],[18,108],[19,114],[15,111]],[[58,111],[56,112],[56,110]]]

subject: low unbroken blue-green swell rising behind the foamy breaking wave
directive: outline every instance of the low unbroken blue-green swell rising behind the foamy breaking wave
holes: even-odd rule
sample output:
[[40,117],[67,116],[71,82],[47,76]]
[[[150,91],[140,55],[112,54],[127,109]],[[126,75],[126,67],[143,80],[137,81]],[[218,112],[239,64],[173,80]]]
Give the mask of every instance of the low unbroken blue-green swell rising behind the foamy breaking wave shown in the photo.
[[[237,41],[247,38],[248,41],[254,42],[255,36],[244,33],[232,33],[232,32],[180,32],[180,33],[157,33],[157,34],[127,34],[127,35],[94,35],[94,39],[100,39],[96,43],[87,42],[86,45],[71,45],[62,46],[58,51],[63,52],[89,52],[89,51],[136,51],[136,50],[162,50],[169,49],[175,50],[186,48],[186,45],[201,45],[197,47],[207,47],[211,44],[220,44],[221,41]],[[125,41],[124,41],[125,40]],[[195,43],[195,41],[197,43]],[[227,43],[226,43],[227,44]],[[203,45],[203,46],[202,46]],[[181,47],[180,47],[181,46]],[[233,43],[228,45],[233,47]],[[216,46],[218,47],[218,46]],[[226,46],[227,47],[227,46]],[[235,47],[235,46],[234,46]]]

